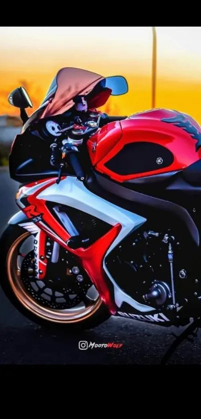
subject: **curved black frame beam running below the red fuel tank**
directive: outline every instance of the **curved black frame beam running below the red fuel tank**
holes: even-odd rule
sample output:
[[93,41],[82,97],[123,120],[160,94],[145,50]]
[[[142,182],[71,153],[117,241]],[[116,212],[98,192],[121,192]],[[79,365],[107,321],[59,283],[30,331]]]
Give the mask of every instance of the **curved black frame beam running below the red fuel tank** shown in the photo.
[[184,240],[188,244],[199,246],[200,234],[197,224],[185,206],[172,200],[172,192],[167,193],[164,188],[161,188],[159,189],[161,196],[155,196],[153,187],[150,188],[149,194],[142,193],[129,189],[97,172],[88,178],[87,187],[108,201],[144,216],[149,223],[161,225],[162,228],[171,226],[182,231]]

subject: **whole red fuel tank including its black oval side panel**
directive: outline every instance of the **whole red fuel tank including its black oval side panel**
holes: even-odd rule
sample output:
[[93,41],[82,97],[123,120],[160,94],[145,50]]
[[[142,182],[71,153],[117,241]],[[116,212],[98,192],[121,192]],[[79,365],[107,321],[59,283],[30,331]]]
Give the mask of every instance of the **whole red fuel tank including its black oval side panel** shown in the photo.
[[182,170],[201,158],[201,126],[177,110],[110,122],[87,141],[95,170],[118,182]]

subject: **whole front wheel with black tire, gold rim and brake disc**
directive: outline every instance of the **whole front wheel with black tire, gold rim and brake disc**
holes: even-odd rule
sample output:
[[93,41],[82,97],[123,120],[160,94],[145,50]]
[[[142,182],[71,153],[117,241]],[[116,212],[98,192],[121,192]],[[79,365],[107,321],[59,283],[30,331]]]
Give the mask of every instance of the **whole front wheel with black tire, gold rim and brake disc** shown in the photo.
[[0,285],[18,311],[42,326],[69,330],[93,328],[107,320],[107,308],[74,256],[60,247],[58,262],[51,263],[53,241],[48,237],[48,268],[38,280],[33,240],[18,225],[8,225],[0,238]]

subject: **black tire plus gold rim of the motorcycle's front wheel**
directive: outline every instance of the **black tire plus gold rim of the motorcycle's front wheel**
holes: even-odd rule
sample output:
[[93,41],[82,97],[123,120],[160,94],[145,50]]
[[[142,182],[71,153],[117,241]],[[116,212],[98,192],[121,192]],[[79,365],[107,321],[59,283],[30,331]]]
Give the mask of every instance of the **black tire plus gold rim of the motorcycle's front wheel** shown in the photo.
[[29,236],[30,233],[23,228],[10,224],[0,238],[0,285],[15,308],[41,326],[69,331],[93,328],[106,321],[110,313],[99,295],[94,304],[77,311],[75,307],[70,312],[41,305],[41,301],[37,301],[40,298],[34,299],[28,293],[21,280],[17,257],[20,245]]

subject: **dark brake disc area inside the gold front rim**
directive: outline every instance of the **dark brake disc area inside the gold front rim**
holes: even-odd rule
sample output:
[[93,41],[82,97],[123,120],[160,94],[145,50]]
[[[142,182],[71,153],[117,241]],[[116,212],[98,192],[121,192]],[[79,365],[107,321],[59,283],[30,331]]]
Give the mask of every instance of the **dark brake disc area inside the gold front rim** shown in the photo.
[[85,306],[90,304],[86,294],[92,282],[72,256],[68,256],[68,260],[66,257],[59,259],[55,264],[48,260],[49,268],[47,266],[42,280],[36,277],[34,262],[34,252],[30,251],[21,263],[21,280],[27,293],[39,304],[55,309],[81,306],[82,302]]

